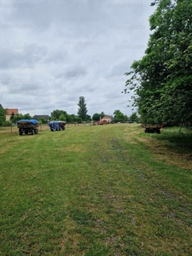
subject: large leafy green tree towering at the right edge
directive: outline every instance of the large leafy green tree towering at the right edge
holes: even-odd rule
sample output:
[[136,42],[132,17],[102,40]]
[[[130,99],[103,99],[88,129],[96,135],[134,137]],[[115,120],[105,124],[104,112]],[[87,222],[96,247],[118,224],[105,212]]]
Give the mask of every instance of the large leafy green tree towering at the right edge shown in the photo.
[[192,121],[192,2],[155,1],[153,32],[140,61],[134,61],[125,92],[135,91],[134,106],[143,122]]

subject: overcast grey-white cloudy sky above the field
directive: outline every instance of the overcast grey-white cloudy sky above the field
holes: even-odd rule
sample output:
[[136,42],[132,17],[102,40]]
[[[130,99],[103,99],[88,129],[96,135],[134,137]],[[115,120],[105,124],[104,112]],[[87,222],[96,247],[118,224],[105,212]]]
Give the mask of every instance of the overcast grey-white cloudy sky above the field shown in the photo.
[[148,45],[150,0],[1,0],[0,103],[19,113],[130,116],[126,72]]

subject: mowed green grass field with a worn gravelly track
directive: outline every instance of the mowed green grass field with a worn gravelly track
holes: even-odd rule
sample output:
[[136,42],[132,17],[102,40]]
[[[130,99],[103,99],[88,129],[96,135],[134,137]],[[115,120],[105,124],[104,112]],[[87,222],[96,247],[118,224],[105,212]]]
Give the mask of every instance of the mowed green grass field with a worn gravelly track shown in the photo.
[[0,129],[0,255],[192,255],[192,135]]

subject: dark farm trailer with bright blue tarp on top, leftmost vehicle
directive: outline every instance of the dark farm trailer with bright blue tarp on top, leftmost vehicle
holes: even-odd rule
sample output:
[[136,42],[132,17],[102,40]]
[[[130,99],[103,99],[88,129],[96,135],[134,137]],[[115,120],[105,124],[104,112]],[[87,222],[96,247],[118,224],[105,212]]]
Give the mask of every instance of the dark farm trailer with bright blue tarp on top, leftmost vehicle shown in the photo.
[[39,123],[36,119],[20,119],[17,121],[17,128],[19,128],[20,135],[23,133],[32,133],[32,135],[38,134],[38,126]]

